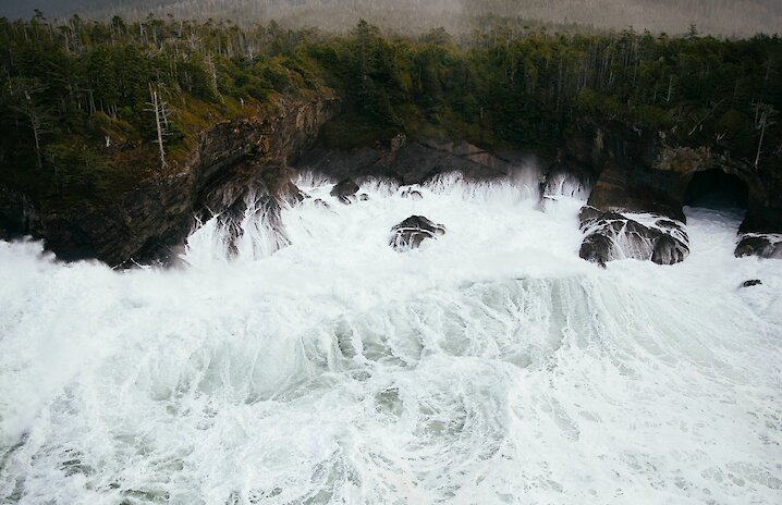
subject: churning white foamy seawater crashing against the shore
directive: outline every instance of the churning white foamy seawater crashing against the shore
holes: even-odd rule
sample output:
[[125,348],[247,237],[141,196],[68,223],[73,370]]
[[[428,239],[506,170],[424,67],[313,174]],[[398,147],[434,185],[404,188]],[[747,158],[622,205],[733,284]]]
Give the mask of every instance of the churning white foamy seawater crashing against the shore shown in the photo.
[[[0,243],[0,503],[782,503],[782,262],[740,213],[601,270],[566,185],[298,185],[183,270]],[[448,232],[396,253],[412,214]]]

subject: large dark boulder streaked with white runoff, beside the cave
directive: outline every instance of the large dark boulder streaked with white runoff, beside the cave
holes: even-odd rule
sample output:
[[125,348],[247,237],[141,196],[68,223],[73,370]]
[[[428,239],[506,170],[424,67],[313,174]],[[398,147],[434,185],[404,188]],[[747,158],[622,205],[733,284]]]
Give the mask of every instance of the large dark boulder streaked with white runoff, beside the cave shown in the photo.
[[601,267],[623,258],[674,264],[689,255],[686,232],[671,220],[658,219],[647,226],[618,212],[585,207],[581,222],[586,237],[578,256]]

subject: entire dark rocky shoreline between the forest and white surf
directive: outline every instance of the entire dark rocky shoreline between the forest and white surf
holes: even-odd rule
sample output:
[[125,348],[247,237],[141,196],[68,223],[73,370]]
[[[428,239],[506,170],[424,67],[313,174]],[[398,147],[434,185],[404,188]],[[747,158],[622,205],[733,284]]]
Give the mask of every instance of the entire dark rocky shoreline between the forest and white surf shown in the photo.
[[[511,175],[529,156],[402,134],[388,146],[327,149],[318,144],[319,132],[339,110],[334,98],[280,99],[273,113],[218,124],[200,135],[180,173],[147,182],[101,210],[46,212],[25,195],[0,189],[0,237],[42,238],[62,260],[171,264],[199,222],[220,213],[230,221],[244,212],[251,196],[257,208],[267,210],[279,211],[281,201],[301,201],[303,195],[291,182],[297,171],[343,181],[350,187],[338,185],[334,190],[349,204],[357,197],[350,190],[356,189],[354,181],[364,176],[388,177],[400,185],[454,171],[467,181],[497,180]],[[585,239],[579,254],[586,260],[602,266],[618,257],[660,264],[683,261],[688,244],[682,209],[694,177],[707,171],[746,186],[747,213],[736,256],[782,257],[780,174],[755,170],[710,148],[672,145],[659,132],[586,120],[570,128],[555,160],[542,161],[543,197],[566,180],[591,187],[581,215]],[[630,213],[657,218],[644,224]],[[241,236],[241,230],[235,235]],[[624,253],[613,250],[618,243],[625,244]]]

